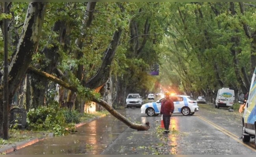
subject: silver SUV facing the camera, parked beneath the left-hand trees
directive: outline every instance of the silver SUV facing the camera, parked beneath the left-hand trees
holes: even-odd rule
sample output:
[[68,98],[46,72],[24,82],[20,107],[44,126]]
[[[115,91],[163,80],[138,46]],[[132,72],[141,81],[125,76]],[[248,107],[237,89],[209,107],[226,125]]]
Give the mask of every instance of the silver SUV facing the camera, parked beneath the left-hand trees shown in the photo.
[[142,102],[142,97],[138,93],[130,93],[126,98],[126,108],[133,106],[136,108],[140,108]]

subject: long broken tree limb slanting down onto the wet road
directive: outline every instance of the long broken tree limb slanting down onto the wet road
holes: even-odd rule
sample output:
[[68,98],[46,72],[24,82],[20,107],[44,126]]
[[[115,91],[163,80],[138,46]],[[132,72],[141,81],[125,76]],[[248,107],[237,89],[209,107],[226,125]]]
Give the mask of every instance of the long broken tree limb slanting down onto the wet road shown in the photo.
[[[67,84],[67,82],[64,82],[60,79],[58,79],[57,77],[50,75],[44,71],[39,71],[36,68],[33,68],[30,66],[30,71],[33,71],[34,73],[41,75],[42,77],[45,77],[46,79],[52,80],[53,82],[60,84],[61,86],[70,89],[74,92],[77,92],[78,89],[75,86],[72,86],[70,84]],[[94,96],[91,97],[91,100],[93,102],[96,102],[98,104],[100,104],[101,106],[103,106],[106,110],[109,111],[109,113],[111,113],[113,116],[115,116],[117,119],[121,120],[122,122],[124,122],[124,124],[126,124],[127,126],[129,126],[132,129],[135,130],[148,130],[150,128],[149,123],[147,122],[146,124],[137,124],[134,122],[131,122],[130,120],[128,120],[126,117],[124,117],[123,115],[121,115],[119,112],[117,112],[114,108],[112,108],[112,106],[110,104],[108,104],[106,101],[102,100],[102,99],[98,99]]]

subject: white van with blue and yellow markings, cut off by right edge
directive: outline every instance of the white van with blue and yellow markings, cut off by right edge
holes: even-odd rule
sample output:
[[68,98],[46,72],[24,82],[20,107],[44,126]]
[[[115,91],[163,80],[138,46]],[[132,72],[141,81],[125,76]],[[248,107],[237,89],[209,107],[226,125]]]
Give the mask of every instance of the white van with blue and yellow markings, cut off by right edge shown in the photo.
[[[242,130],[242,140],[243,142],[250,142],[250,137],[255,138],[256,136],[256,68],[252,75],[252,81],[250,83],[250,90],[247,102],[245,104],[245,110],[243,113],[243,130]],[[243,104],[245,101],[245,95],[239,95],[239,103]],[[254,142],[256,146],[256,141]]]

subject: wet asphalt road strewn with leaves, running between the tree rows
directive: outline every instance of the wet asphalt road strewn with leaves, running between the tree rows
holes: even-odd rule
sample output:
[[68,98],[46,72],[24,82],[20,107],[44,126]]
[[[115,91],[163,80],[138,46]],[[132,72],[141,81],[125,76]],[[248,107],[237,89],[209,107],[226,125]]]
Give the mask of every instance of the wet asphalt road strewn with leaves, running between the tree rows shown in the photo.
[[[133,130],[108,115],[78,127],[72,135],[48,138],[8,154],[152,154],[149,148],[160,149],[160,145],[164,145],[161,149],[165,151],[160,154],[256,154],[255,148],[238,139],[242,115],[226,109],[199,108],[193,116],[174,114],[170,129],[178,133],[166,135],[165,141],[156,137],[160,116],[148,117],[139,108],[118,111],[132,122],[149,121],[151,128]],[[249,144],[254,144],[253,139]]]

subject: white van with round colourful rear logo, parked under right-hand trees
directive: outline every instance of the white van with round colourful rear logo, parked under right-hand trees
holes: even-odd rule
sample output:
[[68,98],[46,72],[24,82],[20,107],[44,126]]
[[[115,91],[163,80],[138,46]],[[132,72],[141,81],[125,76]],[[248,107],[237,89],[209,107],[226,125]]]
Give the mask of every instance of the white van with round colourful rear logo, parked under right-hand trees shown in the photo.
[[233,106],[235,103],[235,92],[233,89],[221,88],[218,90],[215,99],[215,108],[225,107],[228,108]]

